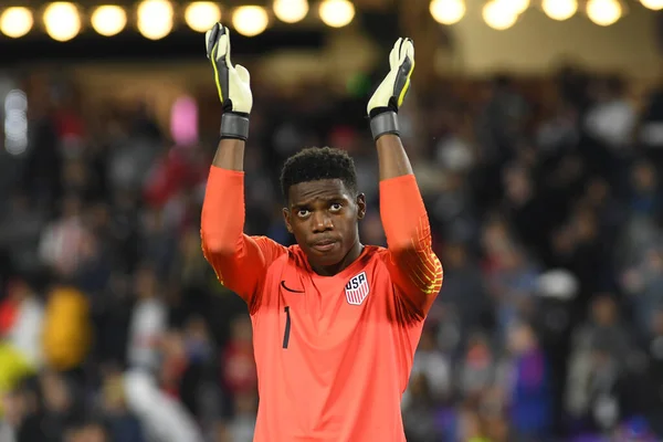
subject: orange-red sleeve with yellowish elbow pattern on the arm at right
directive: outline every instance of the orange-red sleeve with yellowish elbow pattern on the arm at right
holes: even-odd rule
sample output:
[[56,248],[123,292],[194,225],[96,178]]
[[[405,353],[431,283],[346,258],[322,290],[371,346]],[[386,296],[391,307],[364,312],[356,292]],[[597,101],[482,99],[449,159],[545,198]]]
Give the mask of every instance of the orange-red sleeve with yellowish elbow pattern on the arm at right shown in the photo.
[[389,252],[386,264],[397,295],[423,319],[442,287],[442,264],[413,175],[380,181],[380,217]]

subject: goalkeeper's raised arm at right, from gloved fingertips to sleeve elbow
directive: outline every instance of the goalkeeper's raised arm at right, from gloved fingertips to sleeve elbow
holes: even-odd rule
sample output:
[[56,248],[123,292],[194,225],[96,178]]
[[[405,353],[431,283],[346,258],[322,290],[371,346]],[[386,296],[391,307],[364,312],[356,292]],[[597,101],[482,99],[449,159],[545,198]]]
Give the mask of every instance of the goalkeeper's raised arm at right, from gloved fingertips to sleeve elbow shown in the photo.
[[399,136],[398,109],[414,70],[410,39],[396,42],[389,63],[389,74],[368,103],[380,167],[380,217],[389,246],[386,264],[406,308],[423,319],[442,287],[442,265],[432,251],[425,207]]

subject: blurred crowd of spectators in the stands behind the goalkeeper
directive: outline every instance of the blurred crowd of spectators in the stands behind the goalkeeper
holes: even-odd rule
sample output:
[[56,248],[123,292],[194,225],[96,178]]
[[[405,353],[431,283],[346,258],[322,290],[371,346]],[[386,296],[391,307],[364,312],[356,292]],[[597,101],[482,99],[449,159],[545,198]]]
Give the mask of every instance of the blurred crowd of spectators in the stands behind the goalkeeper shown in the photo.
[[[42,86],[21,86],[27,151],[0,156],[0,441],[251,441],[251,323],[200,249],[213,91],[178,145],[145,103]],[[254,96],[246,232],[292,243],[280,165],[329,145],[383,245],[366,97]],[[440,80],[400,118],[444,265],[408,441],[661,440],[663,90],[575,69]]]

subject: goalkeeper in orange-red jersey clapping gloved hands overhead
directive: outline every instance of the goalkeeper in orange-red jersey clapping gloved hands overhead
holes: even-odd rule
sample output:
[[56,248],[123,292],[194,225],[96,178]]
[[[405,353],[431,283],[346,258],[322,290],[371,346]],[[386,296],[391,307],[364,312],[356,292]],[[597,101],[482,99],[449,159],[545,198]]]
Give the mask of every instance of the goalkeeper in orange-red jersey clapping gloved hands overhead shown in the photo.
[[207,53],[223,105],[221,141],[202,208],[202,249],[221,284],[248,304],[260,406],[255,441],[404,441],[401,394],[425,316],[442,285],[428,215],[399,138],[398,109],[414,48],[399,39],[368,102],[388,249],[364,245],[366,199],[341,150],[307,148],[281,172],[285,248],[244,228],[249,72],[214,25]]

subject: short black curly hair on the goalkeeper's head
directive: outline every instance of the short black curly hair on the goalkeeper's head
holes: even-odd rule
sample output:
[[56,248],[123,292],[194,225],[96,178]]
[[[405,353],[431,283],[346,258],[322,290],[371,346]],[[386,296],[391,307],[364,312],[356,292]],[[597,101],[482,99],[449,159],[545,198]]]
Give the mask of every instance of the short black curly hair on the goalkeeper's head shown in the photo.
[[294,185],[323,179],[339,179],[346,189],[357,194],[355,161],[345,151],[332,147],[308,147],[285,160],[281,170],[281,190],[287,201]]

